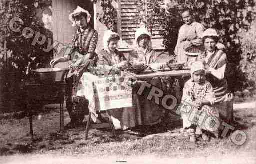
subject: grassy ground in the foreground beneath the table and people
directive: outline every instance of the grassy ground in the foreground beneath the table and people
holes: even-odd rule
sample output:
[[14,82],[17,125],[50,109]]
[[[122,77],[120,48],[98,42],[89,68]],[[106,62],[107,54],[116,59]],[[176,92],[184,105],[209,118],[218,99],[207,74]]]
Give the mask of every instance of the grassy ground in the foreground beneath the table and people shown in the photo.
[[[27,118],[0,120],[0,163],[7,164],[70,164],[70,163],[233,163],[254,164],[256,156],[256,110],[235,109],[236,127],[247,134],[242,146],[233,144],[229,137],[198,140],[191,144],[188,136],[179,133],[181,120],[169,115],[163,127],[145,136],[118,131],[116,138],[108,130],[91,130],[84,139],[85,127],[70,129],[62,134],[58,109],[45,109],[34,116],[35,140],[29,136]],[[40,118],[41,117],[41,118]],[[65,112],[64,123],[69,121]]]

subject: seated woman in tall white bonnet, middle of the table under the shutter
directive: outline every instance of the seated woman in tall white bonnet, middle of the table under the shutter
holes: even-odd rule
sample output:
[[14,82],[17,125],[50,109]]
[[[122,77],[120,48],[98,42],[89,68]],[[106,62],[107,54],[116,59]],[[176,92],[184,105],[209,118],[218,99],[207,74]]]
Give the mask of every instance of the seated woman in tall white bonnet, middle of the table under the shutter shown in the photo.
[[[157,54],[152,49],[151,37],[145,27],[140,27],[136,30],[135,44],[136,48],[130,52],[130,63],[144,63],[154,65],[154,63],[157,61]],[[155,86],[159,89],[162,88],[160,78],[147,78],[142,80],[150,83],[151,86]],[[164,116],[164,109],[154,102],[154,98],[152,98],[152,100],[147,99],[149,92],[150,88],[146,87],[140,96],[143,125],[157,124],[162,121]]]

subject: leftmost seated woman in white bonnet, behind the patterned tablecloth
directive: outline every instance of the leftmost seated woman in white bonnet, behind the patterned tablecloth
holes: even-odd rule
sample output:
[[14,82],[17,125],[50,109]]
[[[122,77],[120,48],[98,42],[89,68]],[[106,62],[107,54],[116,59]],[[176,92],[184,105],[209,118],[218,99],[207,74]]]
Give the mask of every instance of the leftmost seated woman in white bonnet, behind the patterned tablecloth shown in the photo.
[[[119,40],[120,36],[115,32],[107,30],[104,33],[104,48],[99,52],[97,65],[103,65],[108,70],[118,70],[128,64],[125,56],[116,49]],[[108,110],[108,113],[112,116],[115,129],[125,130],[127,128],[141,125],[140,106],[138,101],[136,101],[137,99],[137,94],[134,93],[132,107]],[[107,116],[102,114],[102,117],[104,119]]]

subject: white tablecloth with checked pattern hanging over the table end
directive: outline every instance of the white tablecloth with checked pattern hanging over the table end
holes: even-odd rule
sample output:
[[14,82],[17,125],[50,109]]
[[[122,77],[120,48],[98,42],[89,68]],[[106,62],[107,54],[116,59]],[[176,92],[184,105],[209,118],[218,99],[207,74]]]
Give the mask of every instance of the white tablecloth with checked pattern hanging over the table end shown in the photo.
[[92,111],[131,107],[132,89],[129,84],[126,76],[97,76],[86,72],[80,79],[77,96],[85,96]]

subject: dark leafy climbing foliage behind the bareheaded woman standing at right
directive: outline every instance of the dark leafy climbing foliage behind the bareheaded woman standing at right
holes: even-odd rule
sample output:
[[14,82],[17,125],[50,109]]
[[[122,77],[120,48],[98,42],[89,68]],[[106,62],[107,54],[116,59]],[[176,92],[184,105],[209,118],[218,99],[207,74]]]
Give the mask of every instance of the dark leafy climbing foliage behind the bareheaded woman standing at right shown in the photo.
[[[206,28],[215,28],[226,46],[229,62],[227,78],[230,90],[242,89],[246,77],[239,67],[242,60],[242,49],[239,41],[239,29],[248,30],[255,18],[253,12],[254,0],[172,0],[168,4],[168,14],[162,22],[164,45],[170,53],[173,53],[178,29],[183,24],[181,13],[185,8],[192,10],[196,21]],[[235,77],[234,77],[235,76]]]

